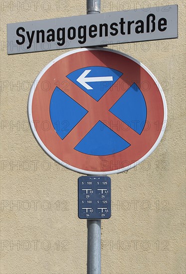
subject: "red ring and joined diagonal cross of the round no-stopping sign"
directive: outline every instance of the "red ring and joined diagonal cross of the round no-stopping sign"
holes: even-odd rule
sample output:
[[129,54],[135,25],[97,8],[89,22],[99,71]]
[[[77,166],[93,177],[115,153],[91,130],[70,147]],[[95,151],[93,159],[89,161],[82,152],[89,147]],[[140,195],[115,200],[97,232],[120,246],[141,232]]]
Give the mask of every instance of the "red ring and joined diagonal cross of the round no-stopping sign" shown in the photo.
[[[66,78],[66,75],[72,71],[88,66],[105,66],[123,73],[98,102]],[[49,83],[48,90],[43,88],[45,82]],[[144,90],[144,82],[149,83],[149,90]],[[56,83],[59,83],[59,89],[88,111],[63,140],[55,132],[49,114],[50,100]],[[68,84],[65,89],[64,83]],[[133,83],[139,86],[147,105],[147,123],[141,135],[109,112],[109,109]],[[111,171],[117,169],[116,163],[118,168],[122,168],[137,162],[153,147],[161,132],[161,127],[157,128],[157,121],[160,125],[164,121],[164,105],[155,81],[135,61],[109,51],[80,50],[59,59],[42,75],[32,99],[32,118],[33,121],[39,121],[34,124],[42,143],[59,160],[81,170]],[[45,131],[39,126],[43,121],[49,121],[51,125],[49,130]],[[111,128],[131,145],[123,151],[106,156],[87,155],[75,150],[74,147],[98,121]],[[116,126],[118,123],[119,129]],[[108,162],[104,170],[102,170],[103,161]]]

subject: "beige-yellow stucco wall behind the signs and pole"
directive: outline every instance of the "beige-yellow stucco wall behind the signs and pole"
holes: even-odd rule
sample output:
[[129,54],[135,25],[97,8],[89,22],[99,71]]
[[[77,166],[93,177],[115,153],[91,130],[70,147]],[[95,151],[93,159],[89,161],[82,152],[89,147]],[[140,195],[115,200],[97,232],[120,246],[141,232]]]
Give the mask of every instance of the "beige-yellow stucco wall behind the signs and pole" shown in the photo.
[[[37,2],[37,4],[36,4]],[[142,164],[111,175],[112,217],[102,221],[103,274],[185,273],[185,0],[102,0],[101,12],[179,5],[179,38],[112,45],[160,82],[168,124]],[[86,14],[85,0],[0,0],[1,274],[85,274],[80,174],[50,159],[27,122],[38,73],[68,50],[7,55],[6,24]],[[17,206],[16,206],[17,204]]]

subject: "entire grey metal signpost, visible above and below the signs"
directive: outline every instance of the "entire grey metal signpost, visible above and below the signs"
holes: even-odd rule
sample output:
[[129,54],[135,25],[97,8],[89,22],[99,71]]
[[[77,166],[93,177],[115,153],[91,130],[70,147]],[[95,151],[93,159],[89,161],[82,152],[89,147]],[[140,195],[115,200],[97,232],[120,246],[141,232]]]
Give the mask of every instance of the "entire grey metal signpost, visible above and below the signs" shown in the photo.
[[[101,0],[87,0],[87,14],[100,7]],[[87,274],[101,274],[101,220],[87,220]]]

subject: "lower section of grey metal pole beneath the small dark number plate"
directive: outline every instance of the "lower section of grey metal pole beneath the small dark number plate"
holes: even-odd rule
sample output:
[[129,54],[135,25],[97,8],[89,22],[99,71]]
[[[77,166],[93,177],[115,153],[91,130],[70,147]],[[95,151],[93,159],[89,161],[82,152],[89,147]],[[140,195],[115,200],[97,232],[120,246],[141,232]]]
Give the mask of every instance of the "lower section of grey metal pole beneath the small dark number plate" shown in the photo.
[[87,220],[87,274],[101,274],[101,220]]

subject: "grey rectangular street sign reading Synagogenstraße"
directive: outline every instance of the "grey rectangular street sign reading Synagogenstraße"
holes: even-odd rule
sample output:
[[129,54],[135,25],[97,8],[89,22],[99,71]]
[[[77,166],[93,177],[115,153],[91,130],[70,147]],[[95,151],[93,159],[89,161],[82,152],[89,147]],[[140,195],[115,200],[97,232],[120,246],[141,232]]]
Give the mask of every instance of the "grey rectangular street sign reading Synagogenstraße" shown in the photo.
[[178,5],[7,24],[7,54],[178,37]]

